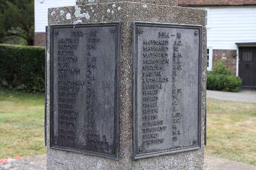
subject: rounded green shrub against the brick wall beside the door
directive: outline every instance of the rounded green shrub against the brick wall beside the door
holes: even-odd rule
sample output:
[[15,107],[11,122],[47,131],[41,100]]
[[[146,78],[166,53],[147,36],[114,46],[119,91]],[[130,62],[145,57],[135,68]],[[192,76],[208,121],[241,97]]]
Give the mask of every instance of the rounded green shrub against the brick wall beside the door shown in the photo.
[[240,77],[232,76],[231,70],[223,60],[217,61],[212,71],[207,71],[207,89],[221,91],[238,91],[242,86]]

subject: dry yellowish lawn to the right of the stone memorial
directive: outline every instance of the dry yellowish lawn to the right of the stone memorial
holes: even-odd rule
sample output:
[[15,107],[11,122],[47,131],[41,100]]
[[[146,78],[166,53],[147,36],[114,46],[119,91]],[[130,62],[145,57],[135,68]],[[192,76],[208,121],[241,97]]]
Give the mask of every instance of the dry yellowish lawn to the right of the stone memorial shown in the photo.
[[207,99],[205,151],[256,165],[256,103]]

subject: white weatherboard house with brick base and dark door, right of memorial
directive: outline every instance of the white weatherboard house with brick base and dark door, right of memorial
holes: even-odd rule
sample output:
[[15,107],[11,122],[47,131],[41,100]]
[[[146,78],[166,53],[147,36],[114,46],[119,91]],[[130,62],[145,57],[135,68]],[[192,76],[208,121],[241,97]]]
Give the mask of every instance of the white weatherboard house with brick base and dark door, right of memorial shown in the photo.
[[256,87],[256,6],[204,7],[207,10],[207,69],[224,58],[243,79]]

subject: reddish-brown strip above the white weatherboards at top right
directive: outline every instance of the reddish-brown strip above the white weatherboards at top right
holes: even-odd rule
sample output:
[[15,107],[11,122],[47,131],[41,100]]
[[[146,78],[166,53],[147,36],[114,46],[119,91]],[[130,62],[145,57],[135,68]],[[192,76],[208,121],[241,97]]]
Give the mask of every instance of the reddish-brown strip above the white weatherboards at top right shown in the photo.
[[256,5],[256,0],[178,0],[178,6]]

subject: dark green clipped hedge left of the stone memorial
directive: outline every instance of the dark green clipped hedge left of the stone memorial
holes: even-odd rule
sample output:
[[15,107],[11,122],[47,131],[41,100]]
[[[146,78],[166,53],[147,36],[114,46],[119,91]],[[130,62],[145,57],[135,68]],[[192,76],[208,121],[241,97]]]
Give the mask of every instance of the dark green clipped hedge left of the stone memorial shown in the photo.
[[0,88],[45,90],[45,47],[0,44]]

